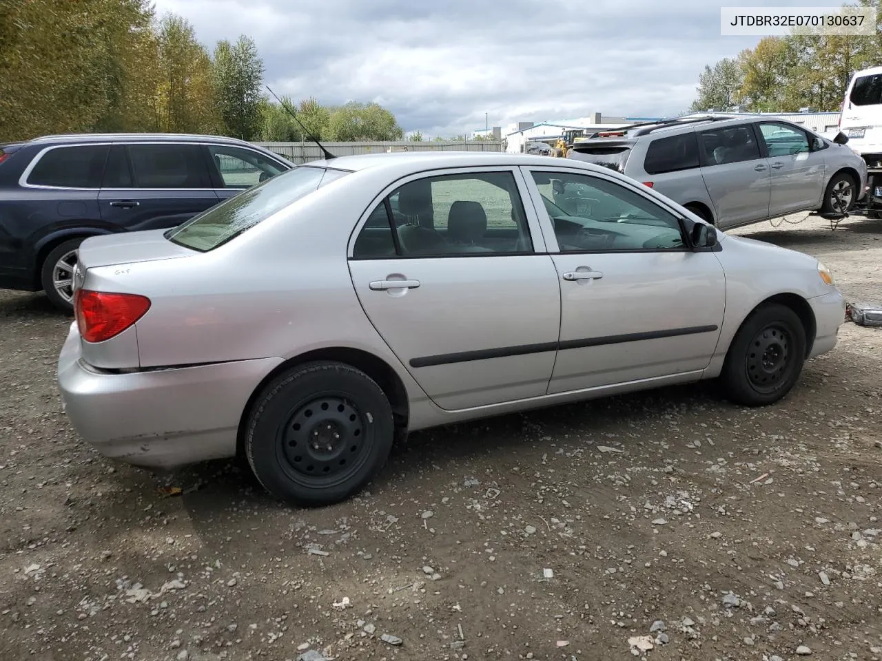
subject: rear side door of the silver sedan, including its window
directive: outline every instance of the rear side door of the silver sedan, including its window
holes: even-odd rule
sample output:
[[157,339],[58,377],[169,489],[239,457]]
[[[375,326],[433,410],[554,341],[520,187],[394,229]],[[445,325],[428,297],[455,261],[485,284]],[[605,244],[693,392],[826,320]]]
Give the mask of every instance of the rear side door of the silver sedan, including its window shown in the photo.
[[548,387],[560,288],[524,190],[512,167],[416,175],[385,191],[349,249],[370,322],[446,410]]

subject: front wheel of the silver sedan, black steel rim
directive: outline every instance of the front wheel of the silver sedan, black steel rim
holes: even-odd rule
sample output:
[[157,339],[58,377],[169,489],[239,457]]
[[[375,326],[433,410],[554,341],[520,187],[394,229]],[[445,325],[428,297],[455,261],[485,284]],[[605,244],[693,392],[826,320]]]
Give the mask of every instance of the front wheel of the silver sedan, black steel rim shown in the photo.
[[737,404],[764,406],[787,395],[805,361],[805,330],[796,313],[779,304],[756,309],[729,346],[721,382]]

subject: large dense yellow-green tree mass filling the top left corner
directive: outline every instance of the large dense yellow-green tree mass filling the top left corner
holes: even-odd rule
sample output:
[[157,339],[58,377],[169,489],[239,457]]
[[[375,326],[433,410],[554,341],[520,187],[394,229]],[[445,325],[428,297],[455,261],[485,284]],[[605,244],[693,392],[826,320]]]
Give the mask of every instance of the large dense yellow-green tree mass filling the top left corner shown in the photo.
[[0,139],[132,121],[151,19],[146,0],[0,2]]

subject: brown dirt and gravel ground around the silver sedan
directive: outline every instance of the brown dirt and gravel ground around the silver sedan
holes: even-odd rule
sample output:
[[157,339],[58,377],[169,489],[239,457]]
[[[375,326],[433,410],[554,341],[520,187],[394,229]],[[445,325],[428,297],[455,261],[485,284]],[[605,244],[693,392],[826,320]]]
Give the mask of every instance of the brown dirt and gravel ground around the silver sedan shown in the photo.
[[[737,234],[882,301],[882,221]],[[158,479],[79,441],[69,323],[0,293],[3,661],[882,658],[882,331],[771,408],[689,387],[414,434],[303,511],[235,462]]]

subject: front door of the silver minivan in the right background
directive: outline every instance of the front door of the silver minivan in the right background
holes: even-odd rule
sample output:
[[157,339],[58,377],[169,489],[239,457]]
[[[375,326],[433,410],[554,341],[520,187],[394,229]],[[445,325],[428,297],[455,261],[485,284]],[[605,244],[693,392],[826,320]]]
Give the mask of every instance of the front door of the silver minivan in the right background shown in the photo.
[[769,215],[811,209],[824,195],[824,154],[811,152],[804,130],[778,122],[759,122],[772,172]]

